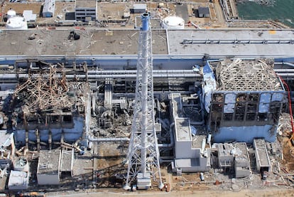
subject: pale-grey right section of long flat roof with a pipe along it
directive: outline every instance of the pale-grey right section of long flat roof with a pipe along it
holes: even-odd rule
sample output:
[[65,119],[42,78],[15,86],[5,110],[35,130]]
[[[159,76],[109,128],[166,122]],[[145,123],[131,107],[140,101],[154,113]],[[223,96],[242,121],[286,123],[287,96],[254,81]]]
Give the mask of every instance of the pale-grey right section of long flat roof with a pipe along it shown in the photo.
[[[170,55],[293,56],[293,29],[195,29],[167,32]],[[183,43],[185,39],[194,41]]]

